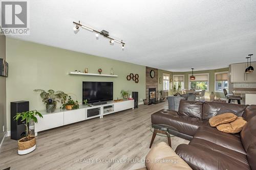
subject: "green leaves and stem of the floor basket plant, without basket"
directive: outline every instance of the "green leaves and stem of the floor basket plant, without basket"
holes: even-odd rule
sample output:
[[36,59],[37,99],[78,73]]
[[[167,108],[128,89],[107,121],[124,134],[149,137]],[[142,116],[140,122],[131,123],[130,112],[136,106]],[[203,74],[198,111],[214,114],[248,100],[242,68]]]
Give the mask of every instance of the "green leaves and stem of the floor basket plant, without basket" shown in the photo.
[[21,119],[21,121],[26,120],[26,140],[31,140],[30,139],[30,134],[29,134],[29,122],[30,120],[34,120],[35,123],[37,123],[37,118],[36,115],[38,115],[39,117],[42,117],[41,113],[39,113],[36,110],[31,110],[31,111],[26,111],[26,112],[22,112],[22,113],[17,113],[13,119],[18,121],[18,119]]

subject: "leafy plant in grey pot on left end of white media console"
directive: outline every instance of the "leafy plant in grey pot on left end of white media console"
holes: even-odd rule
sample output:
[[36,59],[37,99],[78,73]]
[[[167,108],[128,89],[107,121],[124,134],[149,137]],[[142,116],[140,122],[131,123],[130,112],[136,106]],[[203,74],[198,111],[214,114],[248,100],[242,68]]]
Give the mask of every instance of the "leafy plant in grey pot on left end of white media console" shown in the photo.
[[42,90],[42,89],[35,89],[34,91],[40,92],[40,96],[42,98],[42,102],[46,104],[46,111],[47,113],[52,113],[55,111],[57,102],[66,101],[68,94],[63,91],[54,91],[54,90]]

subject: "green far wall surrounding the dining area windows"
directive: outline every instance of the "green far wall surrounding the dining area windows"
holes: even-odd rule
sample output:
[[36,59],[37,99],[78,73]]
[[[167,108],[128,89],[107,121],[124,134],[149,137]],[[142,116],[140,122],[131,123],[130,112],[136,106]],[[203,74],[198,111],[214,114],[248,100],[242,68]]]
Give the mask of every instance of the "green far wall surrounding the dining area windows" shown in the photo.
[[[194,74],[201,74],[201,73],[209,73],[209,92],[205,92],[205,96],[209,97],[211,91],[213,91],[217,98],[225,98],[223,92],[215,92],[215,72],[222,72],[228,71],[227,68],[220,68],[220,69],[211,69],[211,70],[202,70],[202,71],[194,71]],[[188,72],[173,72],[173,75],[184,75],[184,86],[185,89],[189,89],[188,87],[188,75],[191,74],[191,71]]]

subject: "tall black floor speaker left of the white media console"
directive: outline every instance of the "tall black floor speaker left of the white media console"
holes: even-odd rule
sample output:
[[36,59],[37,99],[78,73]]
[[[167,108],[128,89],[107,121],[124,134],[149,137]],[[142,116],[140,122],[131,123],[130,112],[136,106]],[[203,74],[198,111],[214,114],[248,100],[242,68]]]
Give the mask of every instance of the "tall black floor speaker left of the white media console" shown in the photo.
[[11,102],[11,139],[19,140],[26,136],[26,120],[18,121],[14,120],[13,117],[17,113],[29,111],[28,101]]

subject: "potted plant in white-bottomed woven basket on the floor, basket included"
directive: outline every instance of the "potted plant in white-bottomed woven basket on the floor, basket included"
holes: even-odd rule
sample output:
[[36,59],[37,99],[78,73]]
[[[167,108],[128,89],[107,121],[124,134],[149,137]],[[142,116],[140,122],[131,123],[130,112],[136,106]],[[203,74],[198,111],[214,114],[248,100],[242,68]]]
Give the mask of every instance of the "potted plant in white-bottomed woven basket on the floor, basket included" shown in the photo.
[[34,120],[37,123],[36,115],[42,117],[41,113],[37,112],[36,110],[26,111],[22,113],[17,113],[13,119],[18,121],[18,119],[26,120],[26,137],[21,138],[18,140],[18,154],[25,155],[35,150],[36,148],[36,140],[35,136],[31,135],[29,130],[29,122],[30,120]]

